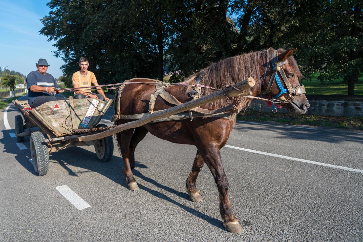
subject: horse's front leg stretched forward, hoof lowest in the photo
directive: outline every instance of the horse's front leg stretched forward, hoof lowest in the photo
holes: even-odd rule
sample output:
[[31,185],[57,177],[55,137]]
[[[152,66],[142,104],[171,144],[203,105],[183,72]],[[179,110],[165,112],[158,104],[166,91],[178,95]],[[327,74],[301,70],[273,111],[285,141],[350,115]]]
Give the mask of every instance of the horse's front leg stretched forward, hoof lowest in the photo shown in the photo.
[[210,145],[211,144],[209,144],[209,147],[198,148],[198,150],[205,163],[207,163],[208,168],[211,170],[217,184],[219,192],[219,210],[223,218],[223,225],[226,230],[232,233],[240,233],[242,231],[242,226],[234,216],[231,203],[229,202],[228,179],[223,169],[219,148],[215,145],[212,147]]

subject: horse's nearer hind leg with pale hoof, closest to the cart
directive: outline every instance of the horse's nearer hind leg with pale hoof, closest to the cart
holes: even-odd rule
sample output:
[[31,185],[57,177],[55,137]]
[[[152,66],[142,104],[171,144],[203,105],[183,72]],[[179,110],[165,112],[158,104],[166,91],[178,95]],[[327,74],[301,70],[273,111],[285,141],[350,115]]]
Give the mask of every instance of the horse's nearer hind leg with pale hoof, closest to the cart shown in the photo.
[[126,177],[126,183],[129,186],[130,190],[137,190],[137,189],[139,189],[139,186],[137,185],[134,175],[131,172],[131,166],[130,166],[130,161],[129,161],[130,142],[131,142],[131,137],[132,137],[133,132],[134,132],[134,129],[122,131],[119,134],[120,135],[119,138],[121,139],[121,144],[119,142],[119,146],[121,149],[121,155],[122,155],[123,164],[124,164],[124,167],[122,168],[122,173]]

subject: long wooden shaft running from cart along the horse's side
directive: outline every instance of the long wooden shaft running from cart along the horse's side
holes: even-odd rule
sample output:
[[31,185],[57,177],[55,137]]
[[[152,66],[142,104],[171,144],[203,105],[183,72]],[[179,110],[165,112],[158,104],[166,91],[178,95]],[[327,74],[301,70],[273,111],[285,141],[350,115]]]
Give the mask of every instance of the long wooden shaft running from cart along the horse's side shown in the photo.
[[[255,84],[254,79],[252,77],[249,77],[241,82],[234,84],[233,86],[236,87],[237,89],[243,91],[250,87],[253,87],[254,84]],[[228,97],[236,97],[236,96],[240,96],[240,95],[241,95],[241,92],[235,90],[233,87],[227,88]],[[251,92],[246,92],[246,93],[244,93],[244,95],[252,95],[252,94],[251,94]],[[109,130],[103,131],[101,133],[79,137],[78,140],[79,141],[90,141],[90,140],[102,139],[107,136],[117,134],[118,132],[121,132],[123,130],[128,130],[130,128],[136,128],[136,127],[143,126],[144,124],[150,123],[155,119],[166,118],[170,115],[178,114],[179,112],[188,111],[188,110],[191,110],[192,108],[199,107],[206,103],[214,102],[214,101],[222,99],[222,98],[225,98],[225,96],[223,94],[223,90],[216,91],[215,93],[209,94],[207,96],[192,100],[190,102],[180,104],[175,107],[170,107],[161,112],[154,112],[150,115],[147,115],[146,117],[144,117],[142,119],[128,122],[125,124],[121,124],[117,127],[110,128]]]

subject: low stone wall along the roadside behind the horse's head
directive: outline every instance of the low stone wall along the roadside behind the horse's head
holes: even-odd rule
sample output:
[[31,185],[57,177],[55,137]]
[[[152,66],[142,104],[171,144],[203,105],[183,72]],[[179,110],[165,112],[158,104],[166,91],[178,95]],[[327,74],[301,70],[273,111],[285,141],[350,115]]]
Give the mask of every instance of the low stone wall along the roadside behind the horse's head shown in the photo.
[[[306,114],[363,117],[363,96],[343,95],[307,95],[310,107]],[[251,108],[255,111],[271,112],[271,108],[262,101],[253,101]],[[278,112],[287,112],[286,108],[278,109]]]

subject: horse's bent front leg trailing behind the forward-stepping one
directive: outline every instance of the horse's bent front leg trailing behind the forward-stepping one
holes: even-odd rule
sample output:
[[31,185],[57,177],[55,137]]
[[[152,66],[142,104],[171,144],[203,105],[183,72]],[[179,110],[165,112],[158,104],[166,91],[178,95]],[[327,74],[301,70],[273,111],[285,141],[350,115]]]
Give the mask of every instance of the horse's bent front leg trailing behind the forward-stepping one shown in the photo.
[[200,170],[203,168],[203,165],[204,165],[203,157],[199,154],[199,151],[197,151],[192,171],[190,172],[188,179],[185,183],[189,199],[192,200],[193,202],[200,202],[202,200],[202,197],[200,196],[199,191],[195,186],[195,182],[197,180]]

